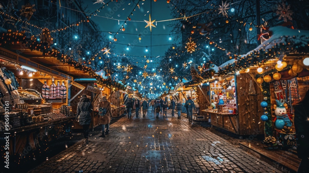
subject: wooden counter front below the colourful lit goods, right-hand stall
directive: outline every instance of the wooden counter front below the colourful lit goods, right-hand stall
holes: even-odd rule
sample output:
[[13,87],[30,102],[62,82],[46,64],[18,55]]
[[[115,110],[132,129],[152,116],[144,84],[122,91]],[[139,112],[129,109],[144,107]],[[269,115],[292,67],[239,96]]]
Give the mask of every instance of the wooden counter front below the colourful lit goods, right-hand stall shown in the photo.
[[202,110],[210,113],[211,125],[239,135],[238,114]]

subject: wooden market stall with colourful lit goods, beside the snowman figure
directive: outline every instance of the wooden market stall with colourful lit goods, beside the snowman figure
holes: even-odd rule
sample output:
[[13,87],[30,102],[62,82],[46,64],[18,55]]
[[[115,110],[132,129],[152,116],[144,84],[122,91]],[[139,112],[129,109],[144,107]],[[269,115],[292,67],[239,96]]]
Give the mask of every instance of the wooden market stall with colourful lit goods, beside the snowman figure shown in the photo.
[[[212,106],[202,110],[210,114],[211,125],[237,135],[264,134],[264,124],[260,120],[263,109],[259,105],[263,95],[257,84],[252,82],[252,76],[240,73],[226,78],[218,77],[215,81],[209,84],[208,101]],[[255,94],[250,95],[249,83],[253,85]],[[222,101],[219,101],[220,98]]]

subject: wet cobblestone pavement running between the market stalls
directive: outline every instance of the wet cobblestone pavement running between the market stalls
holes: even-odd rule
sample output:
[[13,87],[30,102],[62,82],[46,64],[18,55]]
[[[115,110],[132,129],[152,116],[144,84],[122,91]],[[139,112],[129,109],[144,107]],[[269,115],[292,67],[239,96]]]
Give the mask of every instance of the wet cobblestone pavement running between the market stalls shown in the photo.
[[186,118],[132,116],[112,124],[105,138],[94,135],[30,172],[281,172]]

